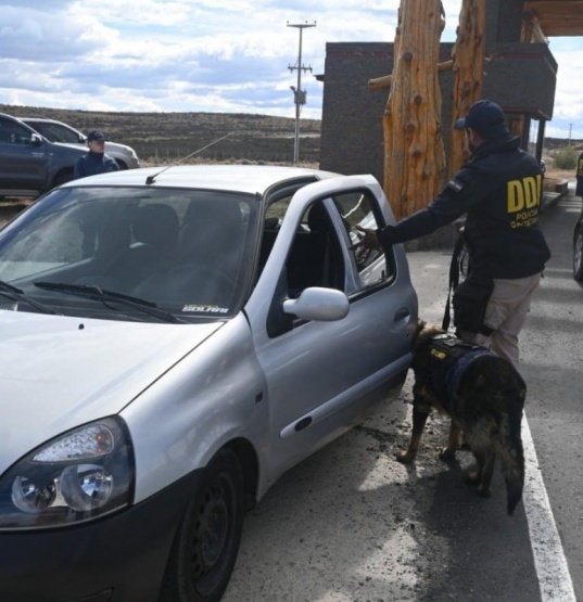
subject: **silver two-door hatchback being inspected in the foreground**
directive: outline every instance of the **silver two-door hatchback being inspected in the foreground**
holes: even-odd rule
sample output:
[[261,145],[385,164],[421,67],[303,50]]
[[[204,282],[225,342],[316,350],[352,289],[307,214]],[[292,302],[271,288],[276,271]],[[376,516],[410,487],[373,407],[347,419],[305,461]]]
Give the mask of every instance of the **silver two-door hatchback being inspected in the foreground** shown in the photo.
[[217,601],[243,515],[401,390],[417,296],[371,176],[84,178],[0,232],[0,599]]

